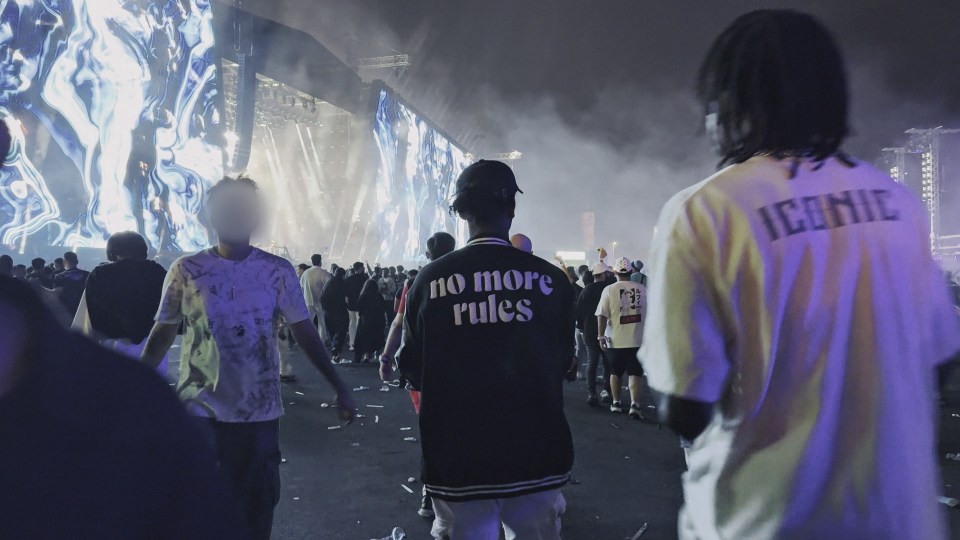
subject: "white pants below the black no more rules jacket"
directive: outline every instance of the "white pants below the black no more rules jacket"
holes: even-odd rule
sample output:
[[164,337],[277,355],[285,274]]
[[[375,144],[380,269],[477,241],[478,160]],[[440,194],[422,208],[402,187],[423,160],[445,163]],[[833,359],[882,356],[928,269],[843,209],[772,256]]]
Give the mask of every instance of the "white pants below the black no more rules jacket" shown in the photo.
[[567,501],[559,489],[509,499],[448,502],[433,499],[437,540],[559,540]]

